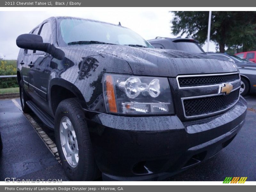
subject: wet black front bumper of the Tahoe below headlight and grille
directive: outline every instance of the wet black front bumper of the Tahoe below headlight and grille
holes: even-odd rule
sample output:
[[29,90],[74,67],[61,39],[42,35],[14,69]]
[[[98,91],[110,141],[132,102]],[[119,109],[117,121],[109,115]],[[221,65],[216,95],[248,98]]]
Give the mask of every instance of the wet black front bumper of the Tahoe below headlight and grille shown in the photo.
[[226,113],[181,122],[177,116],[127,117],[95,114],[87,120],[103,178],[163,179],[209,159],[226,147],[244,124],[240,97]]

